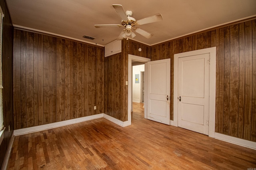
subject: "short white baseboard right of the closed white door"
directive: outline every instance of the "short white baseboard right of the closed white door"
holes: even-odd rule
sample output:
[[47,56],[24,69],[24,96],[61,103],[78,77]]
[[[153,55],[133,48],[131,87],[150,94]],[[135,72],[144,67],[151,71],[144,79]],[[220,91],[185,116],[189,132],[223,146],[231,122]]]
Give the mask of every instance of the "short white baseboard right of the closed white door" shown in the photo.
[[236,138],[233,136],[228,136],[226,134],[220,134],[220,133],[216,133],[216,132],[214,134],[214,138],[256,150],[256,142],[252,142],[249,140],[244,140],[244,139],[240,139],[240,138]]

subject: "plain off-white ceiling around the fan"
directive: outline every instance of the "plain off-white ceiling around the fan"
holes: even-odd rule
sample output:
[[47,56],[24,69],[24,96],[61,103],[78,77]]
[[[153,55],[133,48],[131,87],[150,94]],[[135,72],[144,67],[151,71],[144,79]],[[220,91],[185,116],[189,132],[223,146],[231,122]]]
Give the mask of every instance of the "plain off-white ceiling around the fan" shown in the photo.
[[[150,32],[133,40],[154,45],[228,22],[256,16],[256,0],[6,0],[13,25],[98,45],[116,40],[123,28],[112,4],[132,10],[136,20],[162,14],[163,21],[138,26]],[[83,38],[84,35],[96,39]]]

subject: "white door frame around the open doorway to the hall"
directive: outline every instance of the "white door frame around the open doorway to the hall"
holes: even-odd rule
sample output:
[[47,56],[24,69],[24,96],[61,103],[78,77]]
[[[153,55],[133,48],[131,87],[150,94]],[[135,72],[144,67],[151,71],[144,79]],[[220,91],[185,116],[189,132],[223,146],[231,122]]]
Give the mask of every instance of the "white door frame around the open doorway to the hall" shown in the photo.
[[[128,54],[128,124],[132,124],[132,61],[139,61],[142,63],[147,63],[148,61],[150,61],[149,58],[145,58],[145,57],[139,57],[137,55],[132,55],[132,54]],[[145,65],[146,68],[146,65]],[[144,70],[144,77],[146,76],[146,70]],[[144,99],[147,98],[147,96],[145,95],[145,91],[146,91],[146,87],[147,87],[147,83],[145,83],[144,81]],[[146,101],[144,100],[144,115],[146,114]]]

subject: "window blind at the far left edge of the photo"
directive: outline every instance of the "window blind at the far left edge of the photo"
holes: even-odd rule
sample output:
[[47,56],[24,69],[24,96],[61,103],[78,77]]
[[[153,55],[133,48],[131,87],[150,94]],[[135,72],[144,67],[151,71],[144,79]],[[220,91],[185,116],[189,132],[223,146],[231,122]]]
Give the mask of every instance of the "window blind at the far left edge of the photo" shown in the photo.
[[0,130],[4,128],[4,111],[3,111],[3,82],[2,82],[2,26],[4,13],[0,8]]

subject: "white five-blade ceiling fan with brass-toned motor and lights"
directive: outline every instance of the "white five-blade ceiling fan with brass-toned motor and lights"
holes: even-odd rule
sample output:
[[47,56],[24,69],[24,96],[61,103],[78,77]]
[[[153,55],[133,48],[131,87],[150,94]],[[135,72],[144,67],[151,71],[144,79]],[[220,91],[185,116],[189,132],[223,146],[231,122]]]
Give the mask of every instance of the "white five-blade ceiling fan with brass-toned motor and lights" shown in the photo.
[[[128,36],[130,36],[131,38],[134,38],[136,36],[136,33],[146,37],[146,38],[150,38],[152,36],[152,34],[150,34],[149,32],[146,32],[138,27],[135,26],[140,26],[143,24],[149,24],[152,22],[158,22],[158,21],[162,21],[162,15],[161,14],[157,14],[154,16],[150,16],[147,18],[143,18],[140,20],[137,20],[135,18],[132,17],[132,11],[128,10],[128,11],[124,11],[124,8],[122,5],[118,5],[118,4],[113,4],[112,5],[116,12],[119,14],[120,18],[122,19],[122,23],[121,24],[102,24],[102,25],[94,25],[96,28],[102,28],[102,27],[125,27],[124,30],[122,30],[121,34],[118,36],[118,39],[122,39],[122,38],[126,38],[128,39]],[[133,31],[132,31],[133,29]]]

